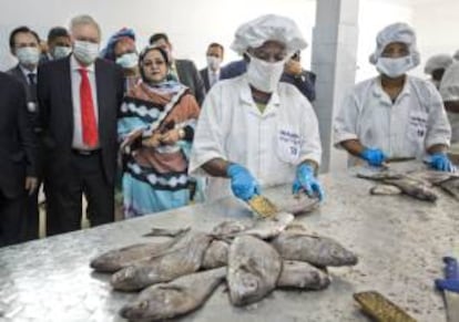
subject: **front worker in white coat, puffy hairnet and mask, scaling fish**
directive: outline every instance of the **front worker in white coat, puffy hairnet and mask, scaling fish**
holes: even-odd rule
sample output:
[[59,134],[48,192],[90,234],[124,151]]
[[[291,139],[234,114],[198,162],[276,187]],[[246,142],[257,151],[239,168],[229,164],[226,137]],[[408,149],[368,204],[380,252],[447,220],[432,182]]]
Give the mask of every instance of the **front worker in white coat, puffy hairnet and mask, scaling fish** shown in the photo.
[[305,46],[285,17],[262,15],[237,29],[232,49],[247,56],[247,72],[207,94],[191,155],[190,173],[210,177],[210,200],[233,194],[248,201],[280,184],[323,198],[317,117],[306,97],[279,82],[286,61]]

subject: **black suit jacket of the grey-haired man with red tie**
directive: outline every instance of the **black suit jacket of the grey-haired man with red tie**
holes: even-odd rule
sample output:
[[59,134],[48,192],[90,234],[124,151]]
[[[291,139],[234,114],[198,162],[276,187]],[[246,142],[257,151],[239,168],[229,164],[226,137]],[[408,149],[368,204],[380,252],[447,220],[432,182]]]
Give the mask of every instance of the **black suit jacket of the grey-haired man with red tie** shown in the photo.
[[[99,108],[99,143],[106,180],[112,184],[116,164],[116,117],[123,98],[123,73],[114,63],[94,62]],[[39,66],[38,97],[45,154],[48,181],[65,185],[71,172],[73,101],[70,56]]]

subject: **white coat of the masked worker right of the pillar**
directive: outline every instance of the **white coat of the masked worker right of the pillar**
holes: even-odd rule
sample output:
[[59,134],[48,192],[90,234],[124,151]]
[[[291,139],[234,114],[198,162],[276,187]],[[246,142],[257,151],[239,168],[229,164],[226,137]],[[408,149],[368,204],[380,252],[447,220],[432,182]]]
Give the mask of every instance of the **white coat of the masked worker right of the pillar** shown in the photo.
[[344,141],[359,139],[366,147],[382,149],[389,158],[420,159],[435,144],[449,146],[450,136],[434,84],[409,75],[394,104],[379,77],[357,84],[345,97],[334,123],[336,147]]

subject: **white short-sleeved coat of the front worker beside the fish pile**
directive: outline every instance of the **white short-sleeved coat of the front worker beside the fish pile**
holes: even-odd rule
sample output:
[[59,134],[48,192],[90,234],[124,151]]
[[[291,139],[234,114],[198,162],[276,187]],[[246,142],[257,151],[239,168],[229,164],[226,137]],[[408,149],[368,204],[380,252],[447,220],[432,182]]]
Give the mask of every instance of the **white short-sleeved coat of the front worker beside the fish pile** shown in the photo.
[[[305,159],[320,163],[322,146],[316,114],[293,85],[279,83],[262,114],[245,75],[216,83],[205,97],[194,135],[190,174],[213,158],[237,163],[262,187],[293,183]],[[206,197],[231,195],[230,180],[210,177]]]

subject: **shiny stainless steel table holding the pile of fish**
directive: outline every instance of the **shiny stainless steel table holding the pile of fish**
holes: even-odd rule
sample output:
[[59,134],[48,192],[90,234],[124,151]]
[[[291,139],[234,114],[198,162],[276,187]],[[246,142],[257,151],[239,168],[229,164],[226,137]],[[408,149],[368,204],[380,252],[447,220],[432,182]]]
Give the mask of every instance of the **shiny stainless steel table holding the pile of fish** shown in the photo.
[[[357,252],[359,263],[330,269],[327,290],[276,290],[247,308],[232,307],[221,285],[183,321],[367,321],[351,297],[364,290],[378,290],[419,321],[445,321],[434,279],[442,274],[441,257],[459,246],[459,202],[441,191],[436,204],[369,196],[373,183],[351,173],[320,179],[325,202],[296,220]],[[153,226],[206,230],[251,216],[228,198],[0,249],[0,321],[123,321],[118,311],[134,294],[112,291],[108,276],[89,268],[91,258],[144,240]]]

